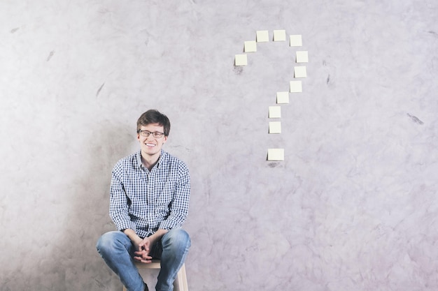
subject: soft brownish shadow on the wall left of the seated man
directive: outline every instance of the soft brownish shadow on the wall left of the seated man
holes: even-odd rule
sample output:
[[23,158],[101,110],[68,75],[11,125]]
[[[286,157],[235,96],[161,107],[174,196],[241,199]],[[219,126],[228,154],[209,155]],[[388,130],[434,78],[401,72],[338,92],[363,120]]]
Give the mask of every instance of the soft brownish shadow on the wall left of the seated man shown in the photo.
[[96,130],[92,140],[80,147],[78,156],[83,161],[72,161],[85,167],[68,173],[71,179],[66,181],[70,183],[64,185],[65,191],[59,197],[65,216],[54,222],[64,224],[57,225],[63,233],[56,235],[58,241],[48,239],[52,244],[50,258],[40,258],[38,269],[30,274],[17,275],[20,281],[2,283],[1,291],[122,290],[118,277],[95,246],[101,234],[115,230],[108,216],[111,170],[120,158],[131,154],[136,140],[132,128],[111,128],[111,135],[104,133],[103,126]]

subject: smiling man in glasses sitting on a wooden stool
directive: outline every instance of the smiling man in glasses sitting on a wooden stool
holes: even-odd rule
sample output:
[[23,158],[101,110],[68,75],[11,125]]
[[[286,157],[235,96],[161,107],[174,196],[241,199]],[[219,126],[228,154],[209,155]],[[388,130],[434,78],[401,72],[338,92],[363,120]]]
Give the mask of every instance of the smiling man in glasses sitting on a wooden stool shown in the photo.
[[97,251],[129,291],[148,290],[134,262],[161,259],[157,291],[173,283],[190,248],[181,229],[188,214],[190,175],[178,158],[162,150],[170,121],[148,110],[137,121],[140,151],[122,158],[113,168],[110,216],[118,231],[97,241]]

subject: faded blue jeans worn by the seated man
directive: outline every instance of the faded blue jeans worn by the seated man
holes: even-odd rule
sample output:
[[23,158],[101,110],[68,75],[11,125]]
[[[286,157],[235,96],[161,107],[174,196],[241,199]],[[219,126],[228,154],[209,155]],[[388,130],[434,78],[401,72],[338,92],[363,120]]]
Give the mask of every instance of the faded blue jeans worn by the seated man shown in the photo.
[[[97,251],[115,274],[117,274],[128,291],[143,291],[145,283],[134,264],[134,245],[129,237],[120,231],[106,232],[96,245]],[[169,230],[151,249],[153,258],[161,259],[158,274],[157,291],[172,291],[179,269],[184,264],[190,248],[190,237],[185,230]]]

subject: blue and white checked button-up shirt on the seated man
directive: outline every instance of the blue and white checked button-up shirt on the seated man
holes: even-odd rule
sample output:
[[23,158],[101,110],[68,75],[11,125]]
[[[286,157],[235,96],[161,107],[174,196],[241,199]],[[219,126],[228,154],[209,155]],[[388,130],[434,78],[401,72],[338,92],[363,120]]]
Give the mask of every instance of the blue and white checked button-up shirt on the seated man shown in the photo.
[[144,238],[158,229],[181,227],[190,200],[188,167],[161,151],[149,172],[138,151],[115,165],[110,193],[110,216],[118,230],[130,228]]

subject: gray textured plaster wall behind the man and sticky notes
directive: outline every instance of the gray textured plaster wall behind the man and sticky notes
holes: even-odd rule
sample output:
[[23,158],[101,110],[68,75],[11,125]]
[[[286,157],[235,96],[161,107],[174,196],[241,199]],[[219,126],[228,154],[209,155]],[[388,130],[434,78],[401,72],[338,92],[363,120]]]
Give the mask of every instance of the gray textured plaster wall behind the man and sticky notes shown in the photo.
[[[438,290],[437,19],[435,0],[1,0],[0,290],[121,290],[94,245],[150,108],[192,175],[191,291]],[[281,135],[297,49],[234,67],[274,29],[309,51]]]

